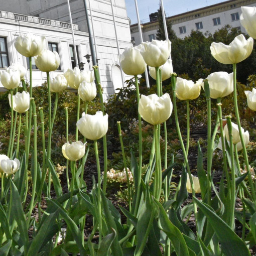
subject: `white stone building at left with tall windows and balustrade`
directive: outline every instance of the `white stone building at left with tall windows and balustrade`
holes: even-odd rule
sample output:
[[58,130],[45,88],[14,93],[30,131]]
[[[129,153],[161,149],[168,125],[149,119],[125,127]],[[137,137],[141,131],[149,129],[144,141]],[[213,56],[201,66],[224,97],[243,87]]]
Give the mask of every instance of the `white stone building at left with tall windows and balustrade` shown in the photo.
[[[123,51],[127,46],[131,46],[130,24],[124,0],[116,2],[118,5],[114,5],[114,15],[117,37],[120,51]],[[85,55],[91,55],[91,51],[83,1],[70,1],[70,8],[78,63],[84,63],[84,69],[89,70],[92,68],[92,63],[88,64]],[[4,11],[0,11],[0,71],[13,62],[20,62],[28,68],[27,58],[20,55],[14,47],[15,38],[28,32],[45,36],[46,48],[59,53],[60,68],[52,72],[53,77],[78,64],[74,55],[67,1],[9,0],[1,3],[1,9]],[[91,0],[91,10],[101,83],[104,98],[107,98],[109,94],[114,93],[116,88],[122,87],[120,72],[118,72],[118,52],[110,2]],[[90,16],[89,19],[91,19]],[[111,73],[115,76],[114,79]],[[46,73],[33,65],[33,85],[41,85],[45,80]],[[114,85],[113,80],[115,80]]]

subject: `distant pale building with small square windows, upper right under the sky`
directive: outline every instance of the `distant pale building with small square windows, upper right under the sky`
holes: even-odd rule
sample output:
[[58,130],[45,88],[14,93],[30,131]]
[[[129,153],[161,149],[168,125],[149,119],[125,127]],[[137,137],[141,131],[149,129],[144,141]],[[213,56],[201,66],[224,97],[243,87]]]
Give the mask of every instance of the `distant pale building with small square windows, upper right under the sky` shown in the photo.
[[[238,28],[241,32],[246,33],[240,24],[241,6],[256,6],[254,0],[231,0],[219,3],[216,5],[200,8],[187,13],[168,17],[172,23],[172,28],[179,38],[189,36],[192,30],[199,30],[202,33],[210,32],[213,34],[218,29],[225,25],[230,25],[233,28]],[[141,24],[143,32],[143,40],[152,41],[156,38],[158,30],[158,21]],[[132,40],[136,45],[139,45],[140,35],[138,24],[131,26]]]

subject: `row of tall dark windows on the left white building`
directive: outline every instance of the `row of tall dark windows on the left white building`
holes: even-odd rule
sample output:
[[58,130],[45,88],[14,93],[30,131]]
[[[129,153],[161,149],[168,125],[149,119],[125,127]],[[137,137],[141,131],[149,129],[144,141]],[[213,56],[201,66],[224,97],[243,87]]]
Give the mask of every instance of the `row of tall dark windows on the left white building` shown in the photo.
[[[59,53],[59,47],[57,43],[48,43],[48,49],[52,52],[57,52]],[[70,51],[70,61],[72,64],[72,68],[76,67],[76,60],[75,60],[75,52],[74,52],[74,46],[69,45],[69,51]],[[78,45],[76,45],[76,52],[77,52],[77,58],[78,58],[78,63],[80,63],[79,60],[79,51],[78,51]],[[29,67],[29,58],[27,58],[27,65]],[[8,56],[8,49],[7,49],[7,41],[5,37],[0,37],[0,68],[10,66],[10,61],[9,61],[9,56]],[[34,58],[32,58],[32,69],[38,69],[38,67],[35,64]],[[61,70],[61,65],[57,70]]]

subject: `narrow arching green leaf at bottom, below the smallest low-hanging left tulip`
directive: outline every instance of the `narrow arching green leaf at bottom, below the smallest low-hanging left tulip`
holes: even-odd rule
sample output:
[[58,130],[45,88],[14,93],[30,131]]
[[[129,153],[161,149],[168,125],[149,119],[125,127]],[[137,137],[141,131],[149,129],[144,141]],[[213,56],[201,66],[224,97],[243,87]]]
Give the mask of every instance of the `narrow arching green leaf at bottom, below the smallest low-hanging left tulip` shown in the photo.
[[59,212],[65,222],[67,223],[69,229],[72,232],[72,235],[77,243],[77,246],[79,248],[79,252],[81,256],[86,255],[85,248],[83,246],[83,233],[80,231],[80,229],[77,227],[75,222],[69,217],[68,212],[56,201],[53,199],[48,199],[51,203],[55,204],[59,208]]

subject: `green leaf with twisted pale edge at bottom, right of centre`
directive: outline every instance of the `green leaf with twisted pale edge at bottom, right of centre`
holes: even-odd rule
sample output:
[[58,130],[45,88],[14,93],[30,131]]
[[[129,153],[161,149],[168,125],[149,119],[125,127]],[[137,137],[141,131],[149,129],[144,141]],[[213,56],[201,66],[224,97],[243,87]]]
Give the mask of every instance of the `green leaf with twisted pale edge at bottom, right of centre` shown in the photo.
[[169,220],[163,206],[155,200],[159,208],[159,227],[167,234],[177,256],[189,256],[189,250],[181,231]]

